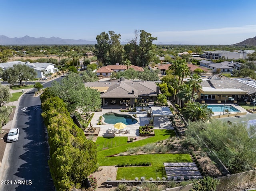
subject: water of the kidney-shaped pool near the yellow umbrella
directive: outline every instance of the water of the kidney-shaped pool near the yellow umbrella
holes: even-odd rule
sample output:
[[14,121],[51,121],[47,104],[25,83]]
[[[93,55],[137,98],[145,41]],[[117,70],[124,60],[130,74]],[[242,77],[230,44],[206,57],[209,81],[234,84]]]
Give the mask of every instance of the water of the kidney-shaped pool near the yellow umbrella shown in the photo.
[[117,113],[105,113],[102,115],[104,117],[104,122],[109,124],[116,124],[122,122],[126,125],[136,124],[138,121],[130,115],[117,114]]

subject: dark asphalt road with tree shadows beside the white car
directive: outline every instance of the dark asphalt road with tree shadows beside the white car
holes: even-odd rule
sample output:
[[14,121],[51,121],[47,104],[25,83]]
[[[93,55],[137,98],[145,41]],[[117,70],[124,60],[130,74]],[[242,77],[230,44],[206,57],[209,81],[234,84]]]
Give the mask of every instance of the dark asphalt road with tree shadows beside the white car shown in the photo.
[[[44,87],[50,84],[48,82]],[[6,161],[2,163],[4,166],[1,165],[0,191],[55,191],[48,166],[49,152],[41,117],[41,101],[39,96],[33,95],[32,89],[20,98],[13,126],[20,129],[20,137],[17,142],[6,146]]]

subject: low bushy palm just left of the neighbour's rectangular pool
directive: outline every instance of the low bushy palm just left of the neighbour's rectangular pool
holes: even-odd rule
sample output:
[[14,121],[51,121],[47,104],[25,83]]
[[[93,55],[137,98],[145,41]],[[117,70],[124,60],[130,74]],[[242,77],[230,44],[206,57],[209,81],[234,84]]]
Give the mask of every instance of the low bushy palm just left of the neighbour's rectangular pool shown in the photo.
[[182,115],[186,120],[198,121],[202,120],[206,122],[213,114],[212,110],[207,107],[206,104],[200,104],[199,102],[188,102],[184,108],[182,108]]

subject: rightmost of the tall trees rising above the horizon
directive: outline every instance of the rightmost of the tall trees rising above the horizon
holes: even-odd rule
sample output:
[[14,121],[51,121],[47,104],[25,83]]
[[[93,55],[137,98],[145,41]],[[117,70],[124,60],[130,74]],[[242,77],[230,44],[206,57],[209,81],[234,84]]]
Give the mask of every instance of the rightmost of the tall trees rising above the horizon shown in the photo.
[[152,35],[144,30],[140,30],[140,44],[139,44],[139,65],[146,66],[150,61],[154,61],[156,57],[155,48],[156,45],[153,41],[157,40],[157,37],[152,37]]

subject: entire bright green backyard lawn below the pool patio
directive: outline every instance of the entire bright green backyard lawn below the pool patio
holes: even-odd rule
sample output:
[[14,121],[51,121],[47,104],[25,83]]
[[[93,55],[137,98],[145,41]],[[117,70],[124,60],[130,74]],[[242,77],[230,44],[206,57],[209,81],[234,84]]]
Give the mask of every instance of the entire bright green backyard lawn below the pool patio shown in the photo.
[[[103,138],[98,137],[98,163],[100,166],[129,165],[129,167],[118,167],[116,179],[135,179],[144,176],[146,179],[166,176],[164,162],[192,162],[189,154],[140,154],[122,156],[128,148],[134,148],[161,142],[174,137],[173,130],[155,130],[155,136],[143,140],[127,143],[127,137]],[[108,148],[108,149],[107,149]],[[113,156],[120,154],[119,156]],[[151,166],[132,166],[138,163],[151,163]]]

